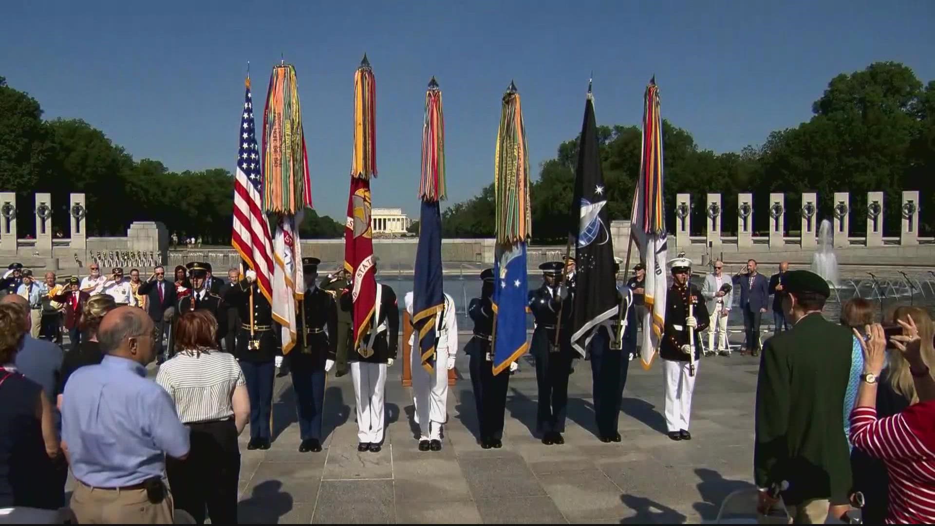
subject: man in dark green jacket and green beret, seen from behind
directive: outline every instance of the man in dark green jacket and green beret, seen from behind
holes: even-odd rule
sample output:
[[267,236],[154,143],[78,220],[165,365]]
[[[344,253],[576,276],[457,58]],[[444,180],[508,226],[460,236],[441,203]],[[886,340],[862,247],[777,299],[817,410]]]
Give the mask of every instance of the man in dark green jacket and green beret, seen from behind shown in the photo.
[[783,482],[795,523],[823,523],[848,511],[850,450],[844,436],[844,393],[854,335],[821,311],[831,291],[809,270],[784,275],[783,310],[792,329],[763,346],[756,386],[754,476],[758,510],[774,503],[767,491]]

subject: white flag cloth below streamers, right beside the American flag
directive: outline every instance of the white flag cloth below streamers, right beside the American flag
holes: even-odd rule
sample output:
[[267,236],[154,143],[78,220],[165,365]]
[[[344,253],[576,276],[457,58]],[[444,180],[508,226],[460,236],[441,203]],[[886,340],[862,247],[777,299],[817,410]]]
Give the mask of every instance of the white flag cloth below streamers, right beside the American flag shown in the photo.
[[273,319],[281,325],[282,354],[298,342],[295,325],[295,301],[305,297],[305,277],[302,271],[302,247],[295,225],[298,216],[283,215],[273,238]]

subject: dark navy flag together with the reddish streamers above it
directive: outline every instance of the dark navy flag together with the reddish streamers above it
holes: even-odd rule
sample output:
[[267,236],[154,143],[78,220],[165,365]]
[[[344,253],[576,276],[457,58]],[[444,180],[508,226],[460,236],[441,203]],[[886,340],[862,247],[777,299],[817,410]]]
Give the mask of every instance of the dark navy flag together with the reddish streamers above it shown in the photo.
[[412,329],[418,334],[422,366],[431,373],[435,367],[438,326],[445,305],[439,208],[439,200],[445,198],[445,119],[441,110],[441,90],[435,77],[429,81],[425,92],[419,198],[422,199],[422,212],[419,215],[419,246],[412,283]]

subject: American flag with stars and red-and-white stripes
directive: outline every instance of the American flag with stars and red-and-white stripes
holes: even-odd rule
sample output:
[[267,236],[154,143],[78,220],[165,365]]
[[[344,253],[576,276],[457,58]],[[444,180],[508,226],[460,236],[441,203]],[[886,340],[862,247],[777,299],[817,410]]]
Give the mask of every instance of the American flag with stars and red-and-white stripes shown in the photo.
[[237,155],[237,176],[234,178],[234,230],[231,244],[247,265],[256,271],[256,284],[272,300],[270,281],[273,270],[272,241],[269,223],[263,212],[263,174],[260,172],[260,152],[256,147],[253,128],[253,102],[250,78],[240,115],[240,149]]

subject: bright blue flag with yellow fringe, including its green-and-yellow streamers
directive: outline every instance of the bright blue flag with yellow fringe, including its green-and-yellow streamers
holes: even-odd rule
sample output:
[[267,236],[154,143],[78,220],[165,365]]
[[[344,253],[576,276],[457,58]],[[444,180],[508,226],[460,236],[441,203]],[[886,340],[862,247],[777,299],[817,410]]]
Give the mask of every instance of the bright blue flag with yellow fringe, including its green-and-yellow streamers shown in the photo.
[[532,236],[529,150],[520,95],[512,82],[501,102],[494,156],[494,374],[510,367],[529,348],[525,330],[526,243]]

